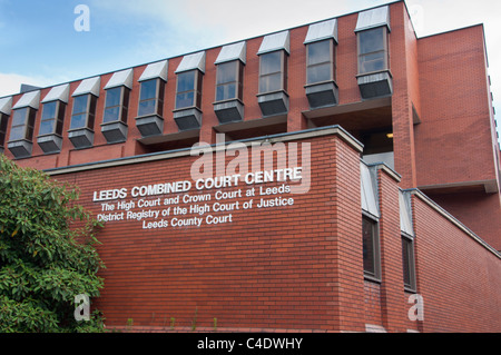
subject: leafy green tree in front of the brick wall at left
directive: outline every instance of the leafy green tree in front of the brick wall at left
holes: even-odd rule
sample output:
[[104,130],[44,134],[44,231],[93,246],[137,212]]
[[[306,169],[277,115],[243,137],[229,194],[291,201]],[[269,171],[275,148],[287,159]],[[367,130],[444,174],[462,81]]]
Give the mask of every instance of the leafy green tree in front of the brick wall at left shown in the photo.
[[96,309],[77,322],[75,296],[98,297],[101,225],[78,188],[0,155],[0,332],[100,332]]

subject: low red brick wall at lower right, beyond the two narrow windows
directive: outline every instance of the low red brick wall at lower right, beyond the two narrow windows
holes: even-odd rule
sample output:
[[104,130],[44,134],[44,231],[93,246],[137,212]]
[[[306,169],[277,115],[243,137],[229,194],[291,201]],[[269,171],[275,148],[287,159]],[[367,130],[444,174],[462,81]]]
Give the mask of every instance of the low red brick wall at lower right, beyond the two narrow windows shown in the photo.
[[500,332],[500,258],[421,198],[413,204],[423,331]]

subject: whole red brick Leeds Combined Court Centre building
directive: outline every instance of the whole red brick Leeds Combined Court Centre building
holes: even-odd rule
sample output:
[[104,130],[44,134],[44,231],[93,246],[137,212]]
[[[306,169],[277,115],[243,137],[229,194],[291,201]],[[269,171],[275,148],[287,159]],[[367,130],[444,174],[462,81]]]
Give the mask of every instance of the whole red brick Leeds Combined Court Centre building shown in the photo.
[[501,331],[481,24],[416,38],[396,1],[0,112],[3,152],[106,220],[109,328]]

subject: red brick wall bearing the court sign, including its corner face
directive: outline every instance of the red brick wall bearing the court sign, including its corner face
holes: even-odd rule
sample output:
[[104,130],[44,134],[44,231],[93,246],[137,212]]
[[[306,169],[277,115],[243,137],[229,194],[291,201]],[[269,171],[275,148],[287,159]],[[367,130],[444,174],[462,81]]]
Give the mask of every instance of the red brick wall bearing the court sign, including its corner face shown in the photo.
[[[96,304],[107,326],[169,326],[170,317],[190,326],[196,316],[208,327],[216,317],[219,327],[363,331],[358,156],[338,137],[312,140],[311,150],[312,188],[292,196],[294,206],[238,210],[230,224],[199,228],[107,223]],[[78,184],[80,200],[99,213],[92,191],[190,179],[194,160],[56,178]]]

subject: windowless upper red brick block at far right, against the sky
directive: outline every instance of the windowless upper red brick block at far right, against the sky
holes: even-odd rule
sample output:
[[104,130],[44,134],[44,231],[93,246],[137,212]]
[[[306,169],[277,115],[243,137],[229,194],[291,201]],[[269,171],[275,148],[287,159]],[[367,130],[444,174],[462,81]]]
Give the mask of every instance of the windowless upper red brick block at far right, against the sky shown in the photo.
[[482,26],[422,38],[418,48],[419,186],[495,178]]

